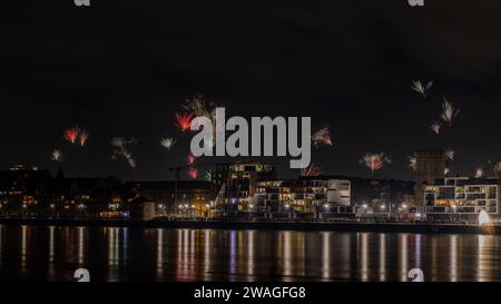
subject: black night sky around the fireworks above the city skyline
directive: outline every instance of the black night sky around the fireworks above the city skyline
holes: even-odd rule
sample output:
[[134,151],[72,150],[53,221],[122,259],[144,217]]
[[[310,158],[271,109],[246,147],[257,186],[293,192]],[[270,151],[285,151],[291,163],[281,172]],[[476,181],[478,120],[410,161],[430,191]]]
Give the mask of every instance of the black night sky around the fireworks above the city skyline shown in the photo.
[[[183,3],[181,3],[183,2]],[[294,2],[294,3],[293,3]],[[412,178],[406,156],[453,148],[453,169],[501,160],[499,1],[23,1],[3,7],[0,167],[128,177],[110,139],[136,136],[139,179],[170,178],[190,136],[174,111],[194,94],[230,115],[311,116],[335,147],[313,150],[326,174],[367,176],[364,153],[393,163],[379,177]],[[22,6],[22,7],[21,7]],[[426,99],[413,80],[433,80]],[[443,96],[461,108],[441,136],[428,128]],[[62,130],[87,128],[89,145]],[[164,136],[183,138],[168,153]],[[277,161],[282,176],[288,158]]]

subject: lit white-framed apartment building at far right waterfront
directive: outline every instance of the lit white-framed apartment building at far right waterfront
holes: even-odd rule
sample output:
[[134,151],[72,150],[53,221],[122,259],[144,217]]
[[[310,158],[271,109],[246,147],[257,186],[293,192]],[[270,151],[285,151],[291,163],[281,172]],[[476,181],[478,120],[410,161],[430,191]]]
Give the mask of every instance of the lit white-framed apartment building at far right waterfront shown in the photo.
[[484,210],[492,218],[500,215],[499,178],[446,177],[424,188],[429,220],[478,222]]

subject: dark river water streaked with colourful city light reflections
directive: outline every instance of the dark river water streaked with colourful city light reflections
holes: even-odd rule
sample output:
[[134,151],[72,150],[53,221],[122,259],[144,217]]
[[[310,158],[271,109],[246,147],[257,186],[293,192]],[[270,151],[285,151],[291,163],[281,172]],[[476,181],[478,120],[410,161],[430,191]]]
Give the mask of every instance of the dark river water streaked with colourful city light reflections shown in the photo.
[[0,226],[0,280],[501,281],[501,236]]

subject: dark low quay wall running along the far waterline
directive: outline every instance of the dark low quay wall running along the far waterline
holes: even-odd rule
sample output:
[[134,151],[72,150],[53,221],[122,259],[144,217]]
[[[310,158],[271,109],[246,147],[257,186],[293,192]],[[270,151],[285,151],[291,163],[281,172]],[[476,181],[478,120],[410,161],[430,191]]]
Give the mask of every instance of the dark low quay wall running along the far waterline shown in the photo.
[[375,232],[375,233],[446,233],[501,235],[501,225],[464,224],[410,224],[410,223],[275,223],[229,220],[95,220],[95,219],[36,219],[0,218],[0,225],[29,226],[94,226],[137,228],[188,228],[188,229],[265,229],[303,232]]

